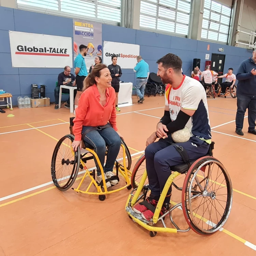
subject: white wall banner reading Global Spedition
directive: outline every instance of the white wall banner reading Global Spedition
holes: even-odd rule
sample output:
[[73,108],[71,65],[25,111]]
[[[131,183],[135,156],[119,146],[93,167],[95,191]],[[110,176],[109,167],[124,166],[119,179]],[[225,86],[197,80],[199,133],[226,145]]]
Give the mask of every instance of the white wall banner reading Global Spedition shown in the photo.
[[133,69],[140,55],[140,45],[104,41],[103,63],[110,65],[113,55],[117,56],[117,64],[121,69]]

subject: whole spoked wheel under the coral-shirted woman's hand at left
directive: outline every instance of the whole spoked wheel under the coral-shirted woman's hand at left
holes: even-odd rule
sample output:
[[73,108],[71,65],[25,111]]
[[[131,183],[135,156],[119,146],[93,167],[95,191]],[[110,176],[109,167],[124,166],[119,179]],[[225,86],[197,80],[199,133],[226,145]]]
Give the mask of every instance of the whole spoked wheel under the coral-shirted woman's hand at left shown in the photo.
[[61,191],[68,190],[75,182],[80,168],[80,148],[71,149],[74,136],[62,137],[54,148],[51,174],[54,185]]

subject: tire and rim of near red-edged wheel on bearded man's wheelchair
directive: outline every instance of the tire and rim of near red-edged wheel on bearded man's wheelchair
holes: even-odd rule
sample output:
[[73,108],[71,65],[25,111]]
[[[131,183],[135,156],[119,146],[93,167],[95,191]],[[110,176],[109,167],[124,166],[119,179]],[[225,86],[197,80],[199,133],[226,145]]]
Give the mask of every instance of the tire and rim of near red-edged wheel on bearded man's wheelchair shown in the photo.
[[[221,172],[223,173],[223,176],[224,176],[224,180],[226,181],[226,184],[227,184],[227,201],[226,201],[226,207],[224,209],[224,213],[222,215],[222,217],[220,218],[220,221],[218,221],[218,218],[217,218],[217,221],[218,223],[215,224],[216,226],[209,226],[208,224],[208,228],[209,227],[212,227],[210,229],[204,229],[203,227],[201,227],[199,225],[199,223],[197,223],[197,221],[195,222],[194,221],[194,214],[190,213],[190,212],[193,212],[194,210],[193,209],[190,209],[190,206],[191,205],[191,202],[195,202],[195,197],[191,196],[192,193],[189,193],[189,187],[192,187],[191,184],[193,184],[193,177],[197,176],[198,177],[198,171],[201,170],[202,171],[202,168],[204,167],[204,163],[205,163],[205,166],[208,166],[210,164],[210,166],[214,163],[216,163],[216,165],[218,166],[219,169],[221,169]],[[200,168],[200,169],[199,169]],[[211,167],[209,167],[210,170],[211,170]],[[205,167],[206,169],[206,167]],[[204,169],[204,171],[205,171]],[[213,168],[212,168],[213,169]],[[218,171],[219,171],[218,169]],[[208,172],[209,172],[209,169],[208,169]],[[208,174],[209,175],[209,174]],[[220,174],[219,174],[220,175]],[[203,177],[203,176],[202,176]],[[212,176],[211,176],[212,177]],[[219,177],[219,176],[218,176]],[[195,178],[194,178],[195,179]],[[210,178],[209,178],[210,179]],[[224,182],[223,180],[223,182]],[[192,181],[192,182],[191,182]],[[212,182],[212,180],[211,180]],[[222,183],[223,183],[222,182]],[[216,182],[212,182],[212,184],[215,184],[215,187],[213,189],[213,191],[211,191],[211,187],[210,185],[206,185],[206,186],[209,186],[209,190],[211,191],[211,193],[215,193],[215,198],[211,198],[210,199],[216,199],[216,196],[222,196],[222,195],[217,195],[215,191],[215,188],[216,188]],[[219,184],[217,184],[219,185]],[[219,185],[220,186],[220,185]],[[224,186],[225,187],[225,186]],[[217,188],[218,190],[219,188]],[[216,190],[216,191],[217,191]],[[207,190],[206,190],[207,191]],[[200,193],[198,193],[200,194]],[[195,195],[195,194],[194,194]],[[214,232],[216,232],[217,230],[219,230],[227,221],[228,217],[229,217],[229,214],[230,214],[230,211],[231,211],[231,206],[232,206],[232,197],[233,197],[233,192],[232,192],[232,184],[231,184],[231,180],[230,180],[230,177],[229,177],[229,174],[227,172],[227,170],[224,168],[224,166],[222,165],[222,163],[220,161],[218,161],[216,158],[214,157],[211,157],[211,156],[205,156],[205,157],[201,157],[199,158],[198,160],[196,160],[193,165],[189,168],[187,174],[186,174],[186,177],[185,177],[185,180],[184,180],[184,183],[183,183],[183,188],[182,188],[182,210],[183,210],[183,214],[184,214],[184,217],[186,219],[186,222],[187,224],[189,225],[189,227],[195,231],[197,234],[201,234],[201,235],[210,235]],[[202,196],[202,198],[204,198]],[[192,201],[194,200],[194,201]],[[206,199],[207,200],[207,199]],[[207,203],[207,201],[206,201]],[[211,201],[210,201],[211,203]],[[217,202],[216,202],[217,203]],[[200,205],[201,202],[200,202]],[[199,205],[199,206],[200,206]],[[210,205],[210,204],[209,204]],[[213,205],[213,203],[212,203]],[[216,207],[216,206],[215,206]],[[199,207],[197,207],[199,208]],[[197,209],[196,208],[196,209]],[[215,208],[216,209],[216,208]],[[211,211],[212,212],[212,211]],[[209,212],[210,213],[210,212]],[[218,212],[219,213],[219,212]],[[204,214],[204,213],[203,213]],[[211,214],[211,213],[210,213]],[[192,216],[193,215],[193,216]],[[196,215],[196,214],[195,214]],[[217,210],[216,210],[216,215],[217,215]],[[221,215],[221,214],[220,214]],[[204,215],[203,215],[204,216]],[[196,216],[198,218],[198,216]],[[200,216],[199,216],[200,217]],[[203,219],[204,221],[204,218],[201,217],[201,219]],[[200,219],[200,220],[201,220]],[[210,217],[211,221],[212,221],[212,218]],[[206,222],[207,223],[207,222]]]

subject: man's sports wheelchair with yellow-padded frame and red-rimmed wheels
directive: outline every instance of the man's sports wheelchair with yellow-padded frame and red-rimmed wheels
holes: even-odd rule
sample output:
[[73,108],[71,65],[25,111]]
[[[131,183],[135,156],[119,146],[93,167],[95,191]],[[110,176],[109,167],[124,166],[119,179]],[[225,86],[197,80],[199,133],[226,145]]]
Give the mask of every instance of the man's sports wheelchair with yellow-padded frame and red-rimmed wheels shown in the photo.
[[[197,234],[209,235],[221,229],[230,214],[233,194],[228,172],[222,163],[213,157],[213,148],[214,142],[211,143],[207,155],[194,161],[189,161],[185,157],[186,154],[184,155],[178,150],[183,156],[184,163],[171,167],[172,173],[163,188],[154,216],[150,221],[146,221],[141,214],[132,209],[138,201],[145,200],[149,192],[145,156],[141,156],[134,166],[131,176],[133,190],[126,202],[126,212],[129,217],[149,230],[151,237],[154,237],[158,231],[177,233],[192,229]],[[182,151],[183,148],[181,147],[180,150]],[[180,174],[185,174],[182,187],[173,182]],[[171,201],[167,211],[160,216],[163,201],[171,185],[182,191],[181,202]],[[173,221],[172,211],[175,209],[183,211],[188,224],[187,229],[179,228]],[[168,215],[170,217],[169,225],[172,227],[166,226],[165,217]],[[158,222],[163,227],[156,225]]]

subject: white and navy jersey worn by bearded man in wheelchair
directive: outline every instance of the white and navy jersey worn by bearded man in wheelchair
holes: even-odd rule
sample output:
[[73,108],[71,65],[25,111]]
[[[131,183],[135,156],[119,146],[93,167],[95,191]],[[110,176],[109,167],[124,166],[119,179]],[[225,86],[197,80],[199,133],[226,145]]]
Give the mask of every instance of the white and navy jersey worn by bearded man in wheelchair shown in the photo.
[[200,82],[183,75],[179,87],[172,88],[168,84],[165,91],[165,105],[169,106],[172,121],[176,119],[181,108],[195,110],[186,127],[190,130],[191,136],[196,136],[209,144],[211,143],[212,135],[207,96]]

